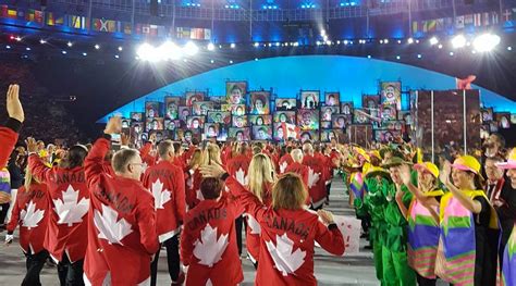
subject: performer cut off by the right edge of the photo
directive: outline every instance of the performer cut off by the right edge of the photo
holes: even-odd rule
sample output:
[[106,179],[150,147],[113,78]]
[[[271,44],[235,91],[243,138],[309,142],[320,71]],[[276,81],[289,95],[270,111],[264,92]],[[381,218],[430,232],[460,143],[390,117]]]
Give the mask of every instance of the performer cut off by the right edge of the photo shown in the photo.
[[[507,170],[507,177],[511,182],[511,187],[507,190],[511,194],[504,195],[502,197],[505,198],[505,202],[508,204],[508,208],[514,209],[516,207],[516,148],[513,148],[508,156],[508,160],[505,163],[497,163],[499,167]],[[513,212],[514,215],[514,212]],[[516,217],[513,216],[513,222],[516,223]],[[504,228],[502,225],[502,232],[511,231],[511,236],[507,238],[507,241],[504,240],[504,236],[502,235],[502,244],[505,243],[505,247],[501,249],[503,251],[503,264],[502,264],[502,277],[501,277],[501,285],[508,286],[508,285],[516,285],[516,227],[512,228]]]

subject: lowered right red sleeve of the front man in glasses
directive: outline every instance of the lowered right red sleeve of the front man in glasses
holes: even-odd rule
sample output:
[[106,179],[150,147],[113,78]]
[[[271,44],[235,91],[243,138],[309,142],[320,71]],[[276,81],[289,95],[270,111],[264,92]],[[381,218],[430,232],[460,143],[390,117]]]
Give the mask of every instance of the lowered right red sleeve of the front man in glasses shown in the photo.
[[136,213],[140,243],[150,256],[156,253],[159,248],[158,234],[156,233],[156,211],[155,203],[150,194],[144,196]]

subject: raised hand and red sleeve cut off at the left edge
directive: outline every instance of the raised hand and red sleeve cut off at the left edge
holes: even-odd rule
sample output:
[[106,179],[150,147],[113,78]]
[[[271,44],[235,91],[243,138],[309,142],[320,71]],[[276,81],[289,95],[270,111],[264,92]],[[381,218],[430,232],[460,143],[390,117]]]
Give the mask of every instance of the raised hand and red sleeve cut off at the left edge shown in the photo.
[[8,159],[17,141],[17,133],[25,120],[22,103],[19,98],[20,86],[10,85],[7,96],[8,122],[0,126],[0,167],[8,164]]

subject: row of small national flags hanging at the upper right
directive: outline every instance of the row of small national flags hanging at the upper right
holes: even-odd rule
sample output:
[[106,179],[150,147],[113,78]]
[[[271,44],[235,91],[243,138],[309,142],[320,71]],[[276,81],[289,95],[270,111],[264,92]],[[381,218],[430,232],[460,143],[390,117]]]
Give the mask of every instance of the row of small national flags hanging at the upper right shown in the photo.
[[433,33],[447,28],[463,29],[467,27],[484,27],[499,25],[500,23],[513,22],[516,20],[516,8],[505,9],[500,15],[499,12],[484,12],[455,17],[441,17],[432,20],[413,21],[413,33]]

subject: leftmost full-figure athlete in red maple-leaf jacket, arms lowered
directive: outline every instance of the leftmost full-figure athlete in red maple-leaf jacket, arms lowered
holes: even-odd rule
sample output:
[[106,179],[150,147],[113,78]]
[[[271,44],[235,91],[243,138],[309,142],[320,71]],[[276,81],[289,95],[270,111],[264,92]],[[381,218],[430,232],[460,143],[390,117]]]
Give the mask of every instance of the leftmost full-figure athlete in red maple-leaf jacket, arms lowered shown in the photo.
[[41,285],[39,273],[48,258],[48,251],[44,247],[47,234],[50,202],[47,185],[32,179],[30,173],[25,175],[30,182],[28,189],[22,186],[17,190],[16,202],[8,224],[5,243],[11,244],[13,232],[20,225],[20,246],[26,257],[27,273],[22,285]]

